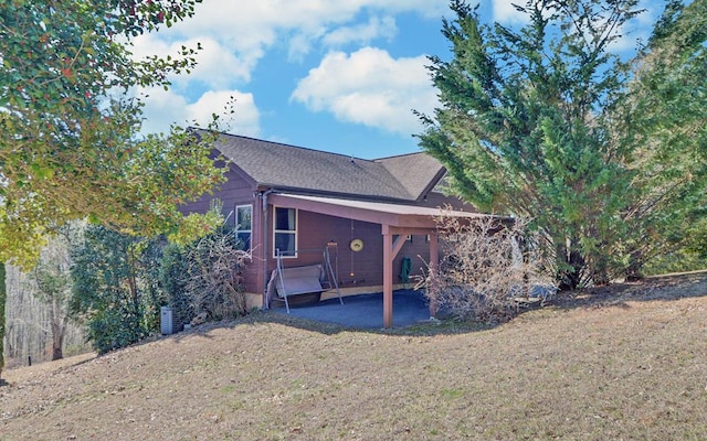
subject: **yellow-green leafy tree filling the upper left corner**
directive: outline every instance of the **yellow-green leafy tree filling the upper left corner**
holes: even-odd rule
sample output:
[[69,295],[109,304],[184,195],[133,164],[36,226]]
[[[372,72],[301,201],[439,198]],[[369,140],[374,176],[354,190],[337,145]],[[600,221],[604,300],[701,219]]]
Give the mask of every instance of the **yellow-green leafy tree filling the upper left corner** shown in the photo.
[[140,138],[143,104],[126,95],[189,73],[192,49],[136,61],[130,45],[191,17],[197,2],[0,6],[0,261],[31,267],[48,233],[84,217],[128,233],[177,232],[178,204],[222,182],[210,132],[175,126]]

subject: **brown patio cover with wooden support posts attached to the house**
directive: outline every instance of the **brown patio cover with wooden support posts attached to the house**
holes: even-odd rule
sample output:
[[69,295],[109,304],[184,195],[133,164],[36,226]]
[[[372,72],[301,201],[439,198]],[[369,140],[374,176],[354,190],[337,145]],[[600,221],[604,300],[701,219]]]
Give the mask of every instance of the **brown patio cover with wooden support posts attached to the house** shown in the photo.
[[[422,235],[430,238],[430,268],[437,266],[439,240],[435,218],[443,214],[441,208],[430,208],[415,205],[365,202],[335,197],[304,196],[294,194],[270,195],[270,204],[296,208],[347,219],[379,224],[383,236],[383,292],[382,292],[382,326],[393,326],[393,260],[402,249],[408,235]],[[467,219],[478,219],[488,215],[461,211],[444,212],[446,216]],[[380,297],[380,294],[378,294]],[[348,303],[349,298],[344,302]],[[317,306],[318,308],[318,306]],[[431,302],[426,309],[426,319],[434,316],[436,305]]]

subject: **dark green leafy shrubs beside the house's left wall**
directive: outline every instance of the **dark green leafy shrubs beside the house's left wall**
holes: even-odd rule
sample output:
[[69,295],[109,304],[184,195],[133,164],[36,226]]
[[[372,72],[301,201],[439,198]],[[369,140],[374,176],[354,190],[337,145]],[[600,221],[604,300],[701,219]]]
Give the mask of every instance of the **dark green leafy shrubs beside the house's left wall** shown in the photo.
[[[201,222],[215,233],[189,244],[146,239],[102,226],[88,226],[83,240],[72,241],[71,313],[88,326],[88,340],[99,353],[136,343],[159,329],[159,306],[176,308],[175,319],[188,322],[194,311],[211,316],[232,312],[242,295],[234,295],[241,256],[230,244],[233,232],[222,232],[222,205],[212,205]],[[190,282],[193,255],[198,254],[199,283]],[[213,303],[196,304],[197,299]],[[207,301],[202,301],[207,302]],[[243,306],[244,308],[244,306]],[[240,310],[239,310],[240,311]]]

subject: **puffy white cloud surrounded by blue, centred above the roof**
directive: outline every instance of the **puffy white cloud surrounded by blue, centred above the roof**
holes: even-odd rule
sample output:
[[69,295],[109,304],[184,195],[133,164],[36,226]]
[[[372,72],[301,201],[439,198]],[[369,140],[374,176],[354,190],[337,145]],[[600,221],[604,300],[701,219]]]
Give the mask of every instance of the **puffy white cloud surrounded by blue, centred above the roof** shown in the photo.
[[428,63],[424,56],[394,60],[373,47],[333,52],[299,80],[291,99],[341,121],[415,133],[421,126],[412,109],[431,114],[437,105]]

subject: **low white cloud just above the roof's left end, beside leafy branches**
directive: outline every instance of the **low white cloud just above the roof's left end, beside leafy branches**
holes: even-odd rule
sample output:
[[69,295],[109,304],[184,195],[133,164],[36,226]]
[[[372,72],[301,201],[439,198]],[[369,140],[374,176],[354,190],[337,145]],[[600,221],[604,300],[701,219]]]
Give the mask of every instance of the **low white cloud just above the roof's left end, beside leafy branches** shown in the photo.
[[[189,104],[187,98],[171,90],[152,88],[143,90],[145,98],[145,114],[149,118],[143,125],[143,131],[165,132],[170,123],[205,127],[211,122],[212,115],[219,116],[219,121],[225,127],[221,130],[257,137],[260,129],[260,111],[255,106],[252,94],[239,90],[207,92],[196,103]],[[229,111],[229,103],[233,104],[233,114]]]

